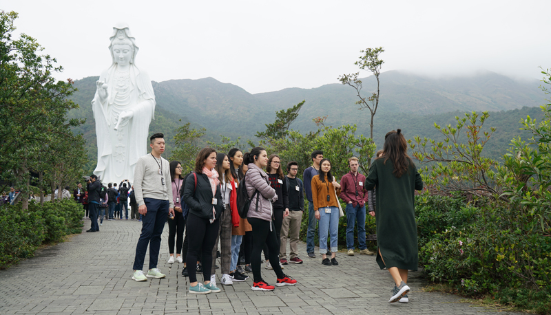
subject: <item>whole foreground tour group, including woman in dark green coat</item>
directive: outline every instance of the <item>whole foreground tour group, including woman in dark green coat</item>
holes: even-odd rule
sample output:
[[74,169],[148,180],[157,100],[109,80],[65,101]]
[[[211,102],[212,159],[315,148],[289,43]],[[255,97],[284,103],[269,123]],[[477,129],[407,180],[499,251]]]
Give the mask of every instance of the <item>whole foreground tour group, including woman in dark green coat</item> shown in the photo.
[[[153,135],[151,141],[151,155],[138,160],[136,166],[136,199],[140,206],[139,211],[144,215],[144,224],[136,247],[132,279],[145,281],[147,277],[163,278],[165,276],[156,268],[156,264],[162,232],[160,222],[164,225],[168,217],[169,263],[185,262],[183,274],[189,276],[190,293],[220,292],[220,288],[216,285],[214,263],[218,242],[220,242],[222,284],[231,285],[234,281],[245,281],[248,278],[242,269],[238,268],[240,255],[243,255],[246,267],[253,273],[252,290],[274,290],[273,285],[269,285],[262,279],[260,272],[261,254],[264,251],[267,265],[277,276],[275,286],[295,285],[297,281],[282,271],[282,263],[287,262],[287,259],[280,259],[280,253],[284,257],[282,239],[287,238],[290,230],[292,233],[289,235],[296,235],[296,239],[291,239],[291,243],[298,242],[304,207],[303,193],[306,193],[309,199],[309,216],[320,222],[320,254],[324,265],[338,265],[335,258],[338,219],[343,215],[339,196],[347,204],[346,212],[349,214],[349,219],[358,221],[359,236],[361,235],[360,221],[362,220],[359,219],[362,216],[361,208],[364,209],[363,225],[365,224],[365,203],[368,202],[373,206],[370,208],[371,215],[375,216],[376,209],[377,263],[381,269],[387,268],[395,280],[393,296],[389,302],[404,301],[406,298],[409,291],[406,284],[408,270],[417,270],[417,229],[413,214],[413,197],[416,189],[422,189],[422,180],[415,169],[415,164],[406,153],[407,144],[400,129],[387,133],[384,149],[373,162],[367,177],[357,173],[357,159],[352,158],[349,160],[351,178],[345,178],[348,174],[345,175],[340,184],[331,173],[331,162],[320,157],[322,155],[320,151],[312,154],[314,165],[304,171],[304,184],[302,184],[302,181],[296,177],[298,172],[296,162],[287,164],[289,175],[284,176],[280,158],[277,155],[268,156],[266,150],[260,147],[245,154],[242,154],[239,149],[232,149],[226,154],[205,148],[196,157],[194,172],[186,177],[183,177],[181,164],[177,161],[171,162],[169,172],[165,171],[163,174],[163,163],[168,163],[160,157],[165,145],[163,135]],[[146,183],[146,179],[156,182],[155,177],[158,177],[156,173],[161,177],[158,183]],[[168,180],[171,184],[165,185],[165,181]],[[246,219],[240,217],[237,209],[237,192],[241,185],[245,185],[249,198]],[[156,186],[161,189],[158,197],[164,198],[169,195],[171,198],[154,199],[152,198],[154,194],[145,193],[146,189],[143,186],[150,186],[147,191],[152,191],[151,188]],[[375,186],[377,187],[376,205],[373,200],[369,202],[370,195],[366,194],[368,191],[373,191],[371,198],[374,199]],[[154,210],[156,214],[147,215],[146,213],[152,211],[149,209]],[[297,213],[293,216],[295,211]],[[163,213],[164,217],[162,215],[159,217],[159,213]],[[309,257],[315,257],[313,237],[310,242],[315,224],[311,228],[311,221],[313,220],[309,220],[307,251]],[[353,226],[354,221],[352,221],[352,228]],[[371,252],[364,245],[365,230],[363,231],[363,242],[359,237],[360,250],[363,251],[362,253],[370,254]],[[353,254],[353,234],[349,236],[348,232],[347,246],[349,254]],[[328,234],[331,237],[329,247],[327,246]],[[352,245],[349,244],[349,239],[352,240]],[[147,243],[150,243],[150,257],[149,272],[145,275],[141,269]],[[176,258],[174,258],[175,244]],[[352,246],[352,252],[350,246]],[[302,263],[298,258],[296,245],[294,247],[291,244],[291,261]],[[181,250],[184,257],[180,254]],[[326,257],[328,254],[331,254],[331,259]],[[196,276],[199,261],[203,274],[202,283]]]

